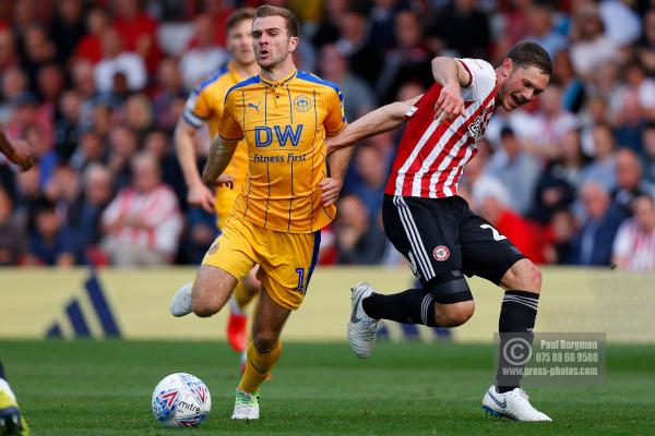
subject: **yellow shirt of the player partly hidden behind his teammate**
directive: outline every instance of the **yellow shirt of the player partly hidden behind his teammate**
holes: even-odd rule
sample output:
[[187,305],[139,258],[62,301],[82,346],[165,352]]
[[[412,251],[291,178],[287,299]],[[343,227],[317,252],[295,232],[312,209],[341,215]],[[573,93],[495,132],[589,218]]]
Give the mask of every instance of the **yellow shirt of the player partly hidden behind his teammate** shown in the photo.
[[[182,112],[184,120],[195,129],[200,129],[206,122],[210,135],[214,137],[218,132],[218,124],[223,117],[225,95],[229,88],[242,80],[235,68],[234,61],[230,61],[227,66],[201,82],[191,93]],[[214,207],[216,209],[218,228],[221,228],[229,216],[235,198],[243,187],[247,172],[248,145],[245,141],[241,141],[228,167],[225,169],[226,174],[235,178],[234,189],[230,190],[226,186],[216,187]]]

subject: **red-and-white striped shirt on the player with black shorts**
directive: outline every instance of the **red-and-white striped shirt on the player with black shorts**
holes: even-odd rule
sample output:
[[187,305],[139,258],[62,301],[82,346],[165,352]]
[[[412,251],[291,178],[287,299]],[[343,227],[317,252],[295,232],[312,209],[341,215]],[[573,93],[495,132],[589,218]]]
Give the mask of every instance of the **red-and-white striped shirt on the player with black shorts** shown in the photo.
[[458,59],[471,75],[462,87],[465,116],[434,120],[434,104],[442,86],[434,84],[406,113],[385,194],[441,198],[457,195],[464,166],[477,154],[496,108],[496,72],[480,59]]

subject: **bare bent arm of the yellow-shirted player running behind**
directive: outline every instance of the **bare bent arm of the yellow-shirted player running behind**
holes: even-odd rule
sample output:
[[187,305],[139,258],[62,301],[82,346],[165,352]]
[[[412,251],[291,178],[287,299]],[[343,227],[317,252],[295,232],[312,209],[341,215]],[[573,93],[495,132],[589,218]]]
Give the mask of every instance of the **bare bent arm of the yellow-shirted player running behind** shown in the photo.
[[184,182],[189,189],[187,202],[189,202],[191,206],[202,207],[211,214],[214,211],[214,195],[212,194],[212,191],[202,183],[202,179],[200,178],[193,146],[194,136],[195,128],[180,117],[175,126],[175,147],[178,161],[180,162],[182,173],[184,174]]

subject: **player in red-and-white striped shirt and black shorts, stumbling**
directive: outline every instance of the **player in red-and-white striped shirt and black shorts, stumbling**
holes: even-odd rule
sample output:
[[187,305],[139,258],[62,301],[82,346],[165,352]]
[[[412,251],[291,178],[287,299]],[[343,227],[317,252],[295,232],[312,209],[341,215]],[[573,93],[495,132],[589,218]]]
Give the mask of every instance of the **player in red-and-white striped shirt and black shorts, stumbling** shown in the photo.
[[[479,276],[504,289],[499,331],[501,350],[520,334],[532,341],[541,288],[539,269],[457,195],[464,166],[477,153],[489,118],[498,107],[512,111],[534,100],[548,85],[548,53],[520,43],[493,69],[481,59],[436,58],[436,83],[420,97],[374,110],[340,135],[329,150],[407,123],[384,193],[384,231],[406,257],[419,289],[378,293],[362,282],[353,291],[350,348],[368,358],[378,320],[456,327],[475,305],[465,276]],[[500,355],[497,379],[483,408],[519,421],[550,421],[534,409],[519,387],[523,366]],[[508,376],[507,374],[513,375]]]

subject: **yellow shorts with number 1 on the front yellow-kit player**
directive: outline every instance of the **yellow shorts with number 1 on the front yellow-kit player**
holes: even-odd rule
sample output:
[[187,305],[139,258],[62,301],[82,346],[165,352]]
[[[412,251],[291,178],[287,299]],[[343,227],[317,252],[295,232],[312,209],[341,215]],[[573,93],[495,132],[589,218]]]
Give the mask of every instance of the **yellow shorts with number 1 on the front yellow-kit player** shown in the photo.
[[237,280],[259,265],[257,278],[271,299],[295,311],[307,292],[320,244],[320,231],[278,232],[230,216],[202,264],[224,269]]

